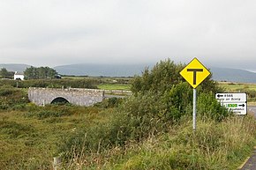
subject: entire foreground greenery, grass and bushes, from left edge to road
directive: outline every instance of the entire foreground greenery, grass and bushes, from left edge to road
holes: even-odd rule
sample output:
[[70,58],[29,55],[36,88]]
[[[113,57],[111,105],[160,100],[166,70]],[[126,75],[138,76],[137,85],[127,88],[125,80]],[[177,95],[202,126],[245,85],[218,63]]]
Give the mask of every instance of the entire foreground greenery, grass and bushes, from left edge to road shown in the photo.
[[222,89],[207,78],[198,87],[194,133],[183,67],[157,63],[134,78],[131,97],[93,107],[36,107],[22,89],[2,85],[1,169],[49,169],[53,157],[64,169],[236,169],[255,144],[255,119],[221,107],[215,92]]

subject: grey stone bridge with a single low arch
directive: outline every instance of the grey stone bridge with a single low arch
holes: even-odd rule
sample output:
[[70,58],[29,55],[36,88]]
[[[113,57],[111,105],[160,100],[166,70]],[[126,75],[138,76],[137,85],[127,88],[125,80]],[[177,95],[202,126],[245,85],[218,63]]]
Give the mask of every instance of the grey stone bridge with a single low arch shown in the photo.
[[28,89],[28,99],[36,105],[44,106],[56,102],[69,102],[79,106],[92,106],[101,102],[104,91],[79,88],[35,88]]

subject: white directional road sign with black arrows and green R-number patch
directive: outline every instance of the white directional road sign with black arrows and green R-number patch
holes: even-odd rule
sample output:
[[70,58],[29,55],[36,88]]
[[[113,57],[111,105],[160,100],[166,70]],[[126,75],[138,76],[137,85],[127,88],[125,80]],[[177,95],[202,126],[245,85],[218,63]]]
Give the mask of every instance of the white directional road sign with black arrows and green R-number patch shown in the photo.
[[215,98],[234,114],[247,114],[246,93],[216,93]]

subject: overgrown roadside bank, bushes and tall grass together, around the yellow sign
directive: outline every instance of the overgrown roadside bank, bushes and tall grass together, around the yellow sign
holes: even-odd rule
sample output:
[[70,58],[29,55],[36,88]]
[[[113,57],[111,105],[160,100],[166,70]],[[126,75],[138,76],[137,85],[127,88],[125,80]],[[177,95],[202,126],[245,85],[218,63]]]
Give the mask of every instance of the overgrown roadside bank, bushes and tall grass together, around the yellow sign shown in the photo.
[[[208,78],[198,88],[200,125],[199,132],[194,134],[190,124],[192,88],[177,78],[178,69],[182,69],[182,65],[167,60],[156,64],[153,70],[145,70],[132,83],[134,95],[111,110],[109,122],[68,137],[60,152],[67,160],[75,159],[69,166],[88,169],[236,167],[255,142],[254,119],[248,117],[250,121],[244,122],[221,107],[215,100],[215,92],[221,89]],[[233,143],[230,136],[239,136],[238,129],[231,131],[230,136],[225,135],[227,130],[233,130],[233,122],[240,123],[237,127],[250,128],[243,132],[246,140],[229,144]],[[229,127],[223,128],[226,124]],[[152,141],[157,142],[152,144]],[[245,147],[241,149],[240,144]]]

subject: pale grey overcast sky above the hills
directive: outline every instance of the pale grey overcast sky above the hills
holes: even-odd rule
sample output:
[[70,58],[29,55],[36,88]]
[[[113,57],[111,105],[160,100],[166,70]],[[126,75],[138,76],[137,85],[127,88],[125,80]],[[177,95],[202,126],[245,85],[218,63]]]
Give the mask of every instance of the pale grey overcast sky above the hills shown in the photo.
[[0,63],[256,70],[255,0],[0,0]]

